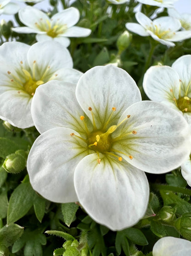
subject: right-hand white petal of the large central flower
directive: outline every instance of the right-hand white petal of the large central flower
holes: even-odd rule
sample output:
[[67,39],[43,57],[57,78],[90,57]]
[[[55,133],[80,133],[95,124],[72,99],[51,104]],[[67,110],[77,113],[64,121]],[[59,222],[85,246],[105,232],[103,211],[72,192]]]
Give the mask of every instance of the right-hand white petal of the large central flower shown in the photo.
[[[190,155],[191,128],[177,111],[154,101],[140,101],[128,107],[118,123],[113,149],[132,155],[133,166],[148,173],[167,173]],[[136,131],[136,134],[129,134]],[[120,154],[119,154],[120,155]]]

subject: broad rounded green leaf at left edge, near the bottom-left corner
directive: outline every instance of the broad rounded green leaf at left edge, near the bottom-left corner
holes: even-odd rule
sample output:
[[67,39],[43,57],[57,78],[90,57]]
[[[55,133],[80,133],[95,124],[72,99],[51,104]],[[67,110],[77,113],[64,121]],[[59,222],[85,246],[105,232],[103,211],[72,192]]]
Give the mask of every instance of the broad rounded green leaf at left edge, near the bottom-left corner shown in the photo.
[[10,224],[0,229],[0,245],[11,246],[22,236],[24,228],[17,224]]

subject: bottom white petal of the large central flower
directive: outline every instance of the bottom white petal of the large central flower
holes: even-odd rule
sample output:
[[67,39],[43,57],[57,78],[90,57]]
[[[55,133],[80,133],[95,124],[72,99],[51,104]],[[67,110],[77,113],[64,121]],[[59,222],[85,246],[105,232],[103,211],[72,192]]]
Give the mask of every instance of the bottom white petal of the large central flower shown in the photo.
[[74,172],[79,202],[90,217],[111,230],[135,225],[145,214],[149,186],[144,172],[128,163],[85,156]]

